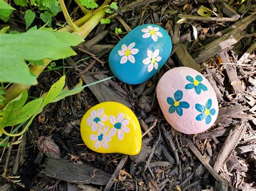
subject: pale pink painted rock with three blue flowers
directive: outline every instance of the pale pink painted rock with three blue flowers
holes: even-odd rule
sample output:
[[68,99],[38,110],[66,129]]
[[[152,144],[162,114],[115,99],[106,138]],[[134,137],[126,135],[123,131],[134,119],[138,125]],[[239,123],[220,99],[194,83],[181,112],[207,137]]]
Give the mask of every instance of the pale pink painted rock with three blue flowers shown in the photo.
[[186,134],[210,128],[218,116],[218,101],[210,82],[188,67],[166,72],[157,85],[157,99],[167,122]]

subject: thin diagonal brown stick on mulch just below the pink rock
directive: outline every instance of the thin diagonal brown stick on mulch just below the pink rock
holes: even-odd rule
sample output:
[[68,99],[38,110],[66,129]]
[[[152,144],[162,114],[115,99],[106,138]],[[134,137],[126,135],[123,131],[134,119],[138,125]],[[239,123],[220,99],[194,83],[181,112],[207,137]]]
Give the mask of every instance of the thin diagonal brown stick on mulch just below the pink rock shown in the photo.
[[213,175],[213,177],[217,181],[226,182],[226,180],[221,177],[214,169],[211,167],[211,165],[204,159],[204,157],[201,155],[201,153],[198,151],[198,149],[194,146],[194,144],[191,142],[190,139],[183,138],[186,140],[188,147],[190,147],[190,150],[196,155],[196,157],[202,162],[202,164],[208,169],[208,171]]

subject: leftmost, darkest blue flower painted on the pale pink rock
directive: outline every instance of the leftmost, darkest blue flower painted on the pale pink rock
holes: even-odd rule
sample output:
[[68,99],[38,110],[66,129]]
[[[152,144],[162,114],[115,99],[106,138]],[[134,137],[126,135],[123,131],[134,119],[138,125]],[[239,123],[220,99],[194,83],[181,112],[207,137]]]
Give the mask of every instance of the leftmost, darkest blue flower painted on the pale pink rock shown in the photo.
[[180,102],[183,97],[183,92],[181,90],[177,90],[174,93],[174,100],[171,97],[167,97],[167,103],[171,105],[169,108],[169,113],[173,114],[175,111],[179,116],[183,115],[183,108],[187,109],[190,107],[190,104],[187,102]]

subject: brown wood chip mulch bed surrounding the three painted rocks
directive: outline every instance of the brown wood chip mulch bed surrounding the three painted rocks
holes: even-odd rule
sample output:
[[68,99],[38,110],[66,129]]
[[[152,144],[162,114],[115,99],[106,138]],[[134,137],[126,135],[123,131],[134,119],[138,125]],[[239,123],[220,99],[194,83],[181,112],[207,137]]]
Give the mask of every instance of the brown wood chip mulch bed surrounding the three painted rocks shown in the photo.
[[[1,180],[0,189],[19,190],[24,185],[24,190],[255,190],[256,6],[251,0],[239,2],[120,1],[111,24],[98,25],[75,47],[78,55],[65,59],[68,86],[75,86],[79,78],[88,84],[111,76],[111,49],[138,25],[156,23],[169,32],[170,58],[159,73],[137,86],[113,78],[50,104],[21,143],[5,152],[9,179]],[[214,12],[212,17],[197,15],[201,5]],[[123,33],[116,35],[116,27]],[[178,66],[199,70],[217,94],[218,119],[199,135],[172,129],[156,99],[160,77]],[[44,72],[30,95],[47,91],[62,72]],[[143,133],[139,154],[96,153],[83,144],[80,120],[104,101],[123,103],[138,117]],[[48,149],[45,154],[42,145]]]

